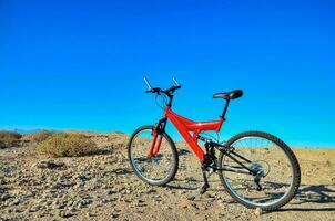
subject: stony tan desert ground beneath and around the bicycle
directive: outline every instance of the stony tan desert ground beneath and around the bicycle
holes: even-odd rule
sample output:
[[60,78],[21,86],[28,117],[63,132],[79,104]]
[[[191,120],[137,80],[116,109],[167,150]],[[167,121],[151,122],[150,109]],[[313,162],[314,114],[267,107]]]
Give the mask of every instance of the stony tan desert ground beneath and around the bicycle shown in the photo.
[[0,220],[335,220],[335,148],[294,148],[302,170],[298,194],[278,211],[256,214],[234,202],[216,175],[205,194],[189,200],[202,175],[184,143],[177,143],[176,178],[152,187],[130,167],[126,135],[87,134],[99,154],[45,158],[28,137],[0,149]]

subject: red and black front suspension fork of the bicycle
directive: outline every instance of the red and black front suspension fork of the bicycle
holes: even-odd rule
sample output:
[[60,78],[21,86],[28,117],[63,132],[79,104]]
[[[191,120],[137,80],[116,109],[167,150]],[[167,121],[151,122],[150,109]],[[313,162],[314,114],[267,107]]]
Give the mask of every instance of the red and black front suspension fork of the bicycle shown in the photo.
[[160,119],[159,124],[154,126],[152,136],[153,140],[151,144],[151,147],[149,149],[148,159],[151,159],[152,157],[156,156],[160,152],[162,139],[163,139],[163,133],[165,131],[168,118]]

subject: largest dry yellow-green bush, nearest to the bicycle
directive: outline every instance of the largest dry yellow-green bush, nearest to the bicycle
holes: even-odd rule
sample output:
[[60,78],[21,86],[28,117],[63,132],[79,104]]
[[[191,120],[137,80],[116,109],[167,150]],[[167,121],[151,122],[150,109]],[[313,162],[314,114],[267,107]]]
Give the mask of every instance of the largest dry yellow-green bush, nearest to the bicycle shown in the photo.
[[55,133],[41,141],[37,147],[39,155],[50,157],[79,157],[98,150],[94,141],[84,135]]

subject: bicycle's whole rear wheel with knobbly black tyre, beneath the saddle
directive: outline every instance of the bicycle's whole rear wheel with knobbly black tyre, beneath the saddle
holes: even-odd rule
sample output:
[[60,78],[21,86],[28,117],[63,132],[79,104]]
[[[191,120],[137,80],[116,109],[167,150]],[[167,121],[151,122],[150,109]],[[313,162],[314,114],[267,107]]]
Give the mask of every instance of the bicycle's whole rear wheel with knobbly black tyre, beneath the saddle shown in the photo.
[[237,202],[270,211],[294,198],[301,170],[285,143],[267,133],[246,131],[232,137],[225,146],[227,151],[221,152],[217,161],[223,168],[219,176]]

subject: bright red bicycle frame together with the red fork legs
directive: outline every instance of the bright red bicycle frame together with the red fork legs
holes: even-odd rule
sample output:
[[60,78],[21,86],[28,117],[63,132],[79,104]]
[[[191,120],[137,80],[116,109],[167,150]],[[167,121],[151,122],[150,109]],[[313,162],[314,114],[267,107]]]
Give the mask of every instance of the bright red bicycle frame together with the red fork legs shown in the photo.
[[[204,151],[197,145],[199,134],[204,130],[214,130],[219,133],[224,122],[224,117],[220,117],[219,120],[213,120],[213,122],[193,122],[174,113],[169,106],[165,109],[164,118],[161,119],[160,122],[164,122],[166,124],[168,119],[170,119],[173,123],[175,128],[183,136],[185,141],[190,145],[191,149],[194,151],[194,154],[201,161],[204,160]],[[165,125],[163,126],[163,129],[165,129]],[[193,134],[191,135],[190,133]],[[156,129],[154,130],[153,136],[154,136],[153,143],[151,145],[148,155],[149,159],[152,158],[153,154],[154,155],[159,154],[162,138],[163,138],[162,135],[160,135],[160,133],[156,131]]]

